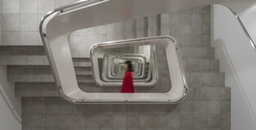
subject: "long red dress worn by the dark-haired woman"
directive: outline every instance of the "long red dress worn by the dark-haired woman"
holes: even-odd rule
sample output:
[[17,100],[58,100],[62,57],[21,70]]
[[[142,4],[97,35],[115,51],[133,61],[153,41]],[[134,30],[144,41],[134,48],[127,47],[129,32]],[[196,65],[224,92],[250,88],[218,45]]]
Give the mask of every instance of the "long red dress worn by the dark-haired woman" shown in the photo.
[[132,72],[126,72],[124,80],[122,81],[121,93],[135,93]]

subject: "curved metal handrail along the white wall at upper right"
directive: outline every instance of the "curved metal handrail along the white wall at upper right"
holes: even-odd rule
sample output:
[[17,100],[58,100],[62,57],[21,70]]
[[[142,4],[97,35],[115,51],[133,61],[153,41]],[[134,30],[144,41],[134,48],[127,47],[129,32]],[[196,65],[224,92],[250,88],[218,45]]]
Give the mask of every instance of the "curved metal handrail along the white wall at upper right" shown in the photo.
[[[222,6],[224,6],[224,5],[222,5]],[[228,7],[228,6],[226,6],[226,7],[227,7],[230,11],[232,11],[232,13],[235,15],[236,20],[237,20],[238,23],[241,25],[241,28],[244,30],[246,37],[248,37],[249,43],[252,45],[254,51],[256,51],[256,44],[254,43],[252,37],[250,37],[249,32],[246,30],[245,25],[244,25],[243,22],[241,21],[239,15],[237,15],[236,12],[233,11],[230,7]]]

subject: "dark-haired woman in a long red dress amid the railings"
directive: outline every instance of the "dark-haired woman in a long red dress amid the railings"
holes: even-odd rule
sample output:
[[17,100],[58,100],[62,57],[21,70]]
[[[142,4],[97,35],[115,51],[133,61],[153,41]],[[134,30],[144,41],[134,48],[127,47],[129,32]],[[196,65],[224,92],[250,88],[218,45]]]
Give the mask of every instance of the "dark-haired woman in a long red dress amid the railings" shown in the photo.
[[130,61],[125,63],[126,74],[121,86],[121,93],[135,93],[134,81],[132,79],[132,64]]

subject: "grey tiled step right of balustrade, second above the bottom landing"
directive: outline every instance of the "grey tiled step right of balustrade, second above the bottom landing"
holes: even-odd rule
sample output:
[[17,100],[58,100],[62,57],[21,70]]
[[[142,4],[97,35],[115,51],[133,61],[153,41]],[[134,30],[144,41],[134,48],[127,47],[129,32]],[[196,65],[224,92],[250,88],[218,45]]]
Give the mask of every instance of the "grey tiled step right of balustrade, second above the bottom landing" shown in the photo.
[[185,72],[218,72],[218,59],[183,59]]

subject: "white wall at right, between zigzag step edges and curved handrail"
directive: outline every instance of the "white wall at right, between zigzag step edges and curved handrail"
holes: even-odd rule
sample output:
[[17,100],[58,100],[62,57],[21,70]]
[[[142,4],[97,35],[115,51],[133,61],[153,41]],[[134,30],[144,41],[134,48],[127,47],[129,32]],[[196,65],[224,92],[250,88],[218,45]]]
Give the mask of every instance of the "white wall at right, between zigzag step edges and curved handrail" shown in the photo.
[[211,6],[211,45],[225,84],[232,88],[232,130],[255,130],[256,52],[236,17],[225,6]]

